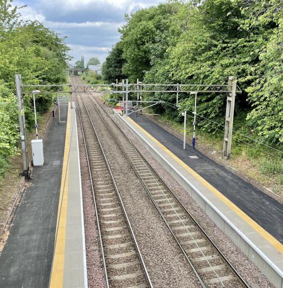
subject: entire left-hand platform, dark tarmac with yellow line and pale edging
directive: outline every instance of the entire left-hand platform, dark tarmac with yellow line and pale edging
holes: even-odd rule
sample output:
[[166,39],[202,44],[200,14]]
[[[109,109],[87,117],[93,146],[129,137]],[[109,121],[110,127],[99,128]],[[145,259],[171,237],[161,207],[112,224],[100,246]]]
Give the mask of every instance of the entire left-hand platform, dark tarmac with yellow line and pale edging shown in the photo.
[[61,124],[58,112],[51,120],[44,165],[27,180],[0,254],[0,287],[87,287],[74,110],[62,103]]

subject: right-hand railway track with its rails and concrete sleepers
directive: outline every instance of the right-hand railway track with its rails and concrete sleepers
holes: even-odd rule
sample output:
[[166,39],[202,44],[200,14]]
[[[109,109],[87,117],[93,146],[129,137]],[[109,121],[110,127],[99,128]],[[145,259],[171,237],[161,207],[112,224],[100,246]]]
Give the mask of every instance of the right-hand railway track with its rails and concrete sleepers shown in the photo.
[[202,287],[248,287],[194,217],[142,157],[112,118],[113,115],[109,115],[93,95],[90,97],[92,107],[97,112],[96,123],[102,121],[112,134]]

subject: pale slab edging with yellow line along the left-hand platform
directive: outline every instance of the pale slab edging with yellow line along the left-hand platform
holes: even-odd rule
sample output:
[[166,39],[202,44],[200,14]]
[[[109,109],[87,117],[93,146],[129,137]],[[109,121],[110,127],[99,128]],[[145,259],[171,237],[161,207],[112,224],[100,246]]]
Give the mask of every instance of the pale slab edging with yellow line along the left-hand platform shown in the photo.
[[67,123],[58,217],[50,288],[87,288],[75,109],[71,109],[70,122]]

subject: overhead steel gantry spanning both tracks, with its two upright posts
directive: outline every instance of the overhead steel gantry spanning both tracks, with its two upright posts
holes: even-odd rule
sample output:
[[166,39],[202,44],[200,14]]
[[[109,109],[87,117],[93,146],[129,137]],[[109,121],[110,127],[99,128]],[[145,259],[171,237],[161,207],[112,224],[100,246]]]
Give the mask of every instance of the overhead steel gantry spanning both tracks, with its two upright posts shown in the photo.
[[[39,90],[41,94],[70,94],[70,100],[72,103],[71,95],[73,92],[101,92],[107,91],[111,88],[111,92],[114,94],[123,95],[123,106],[125,103],[126,96],[126,114],[128,115],[128,101],[130,93],[137,93],[138,99],[134,101],[137,103],[137,107],[140,104],[140,108],[137,110],[142,111],[143,109],[154,106],[160,103],[168,104],[165,101],[141,101],[142,93],[176,93],[176,105],[174,108],[178,109],[178,98],[179,93],[190,93],[194,94],[197,98],[198,93],[226,93],[227,104],[226,104],[226,116],[225,116],[225,130],[224,130],[224,144],[223,144],[223,157],[228,159],[231,154],[231,142],[232,142],[232,130],[233,130],[233,117],[234,117],[234,104],[237,92],[241,92],[241,89],[237,85],[237,79],[230,76],[228,84],[151,84],[142,83],[137,80],[137,83],[129,83],[128,79],[123,80],[121,83],[111,84],[34,84],[34,85],[23,85],[21,83],[21,75],[15,75],[16,84],[16,95],[18,98],[18,106],[21,113],[19,114],[19,124],[21,132],[21,144],[22,154],[24,162],[24,175],[30,177],[27,150],[26,150],[26,133],[25,133],[25,119],[23,110],[23,96],[25,94],[32,93],[35,90]],[[67,88],[67,89],[66,89]],[[91,91],[89,90],[91,88]],[[142,103],[148,103],[149,106],[141,107]],[[171,105],[170,105],[171,106]],[[71,107],[74,107],[71,105]],[[179,109],[178,109],[179,110]],[[196,110],[196,105],[195,105]],[[181,111],[180,111],[181,112]],[[185,111],[184,111],[185,112]],[[196,116],[196,111],[193,112]],[[185,115],[185,113],[184,113]],[[195,126],[195,121],[194,121]],[[184,133],[185,133],[184,129]]]

